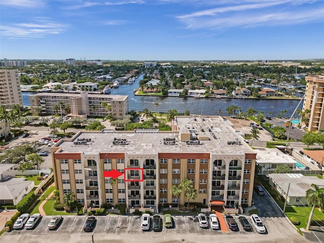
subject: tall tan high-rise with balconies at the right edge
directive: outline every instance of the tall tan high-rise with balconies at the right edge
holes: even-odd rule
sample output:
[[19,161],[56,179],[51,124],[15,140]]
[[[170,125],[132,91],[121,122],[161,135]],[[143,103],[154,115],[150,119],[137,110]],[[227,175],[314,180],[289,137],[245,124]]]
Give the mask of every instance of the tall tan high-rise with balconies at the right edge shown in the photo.
[[303,110],[309,109],[308,123],[306,127],[310,132],[324,129],[324,75],[306,76],[306,93]]

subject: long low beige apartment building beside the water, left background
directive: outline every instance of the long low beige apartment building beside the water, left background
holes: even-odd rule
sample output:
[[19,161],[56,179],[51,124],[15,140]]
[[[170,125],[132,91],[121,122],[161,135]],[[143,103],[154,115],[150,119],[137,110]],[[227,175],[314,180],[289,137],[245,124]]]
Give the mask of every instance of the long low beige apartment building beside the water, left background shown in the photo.
[[[57,104],[64,104],[68,112],[64,114],[73,117],[99,116],[112,114],[117,119],[122,119],[128,113],[128,96],[124,95],[100,95],[82,93],[38,93],[29,96],[31,112],[36,113],[36,107],[41,107],[42,114],[60,114],[62,108],[54,109]],[[111,105],[110,110],[101,106],[102,102]]]

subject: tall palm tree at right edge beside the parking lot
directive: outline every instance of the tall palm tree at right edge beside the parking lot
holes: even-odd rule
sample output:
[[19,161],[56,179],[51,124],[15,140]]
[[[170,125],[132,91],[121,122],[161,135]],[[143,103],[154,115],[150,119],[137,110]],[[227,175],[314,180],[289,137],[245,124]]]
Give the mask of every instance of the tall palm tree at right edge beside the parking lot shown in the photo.
[[324,187],[319,188],[317,185],[312,184],[311,189],[306,191],[306,199],[308,205],[312,205],[312,210],[310,211],[308,223],[306,229],[309,230],[310,223],[312,221],[314,209],[316,206],[323,206],[324,203]]

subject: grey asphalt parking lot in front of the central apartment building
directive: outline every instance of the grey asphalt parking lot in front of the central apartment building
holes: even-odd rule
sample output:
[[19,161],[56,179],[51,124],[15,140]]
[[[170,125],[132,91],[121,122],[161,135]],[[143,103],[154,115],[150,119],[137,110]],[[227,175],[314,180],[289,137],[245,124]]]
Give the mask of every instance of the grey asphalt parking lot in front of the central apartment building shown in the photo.
[[[285,242],[307,242],[305,237],[299,235],[295,229],[287,222],[285,218],[265,218],[264,223],[267,228],[266,234],[258,234],[253,228],[252,231],[247,232],[242,229],[238,216],[234,216],[236,223],[239,227],[239,231],[229,231],[223,233],[222,230],[212,230],[211,228],[200,228],[199,222],[194,216],[172,216],[174,227],[163,227],[161,232],[154,232],[151,229],[149,231],[141,230],[141,218],[140,216],[121,216],[121,215],[107,215],[96,216],[97,223],[93,232],[84,232],[83,225],[88,216],[63,216],[63,220],[58,225],[56,230],[47,229],[47,225],[52,219],[52,216],[44,216],[39,221],[34,229],[26,230],[12,230],[11,232],[5,232],[1,237],[3,242],[91,242],[92,234],[96,238],[97,242],[109,242],[106,241],[107,236],[109,239],[124,239],[125,242],[158,242],[154,239],[158,237],[161,242],[168,241],[168,238],[179,238],[188,240],[188,242],[202,242],[206,240],[213,240],[217,237],[219,242],[234,242],[232,239],[238,240],[235,242],[281,242],[285,239]],[[247,216],[249,222],[250,218]],[[276,225],[278,223],[273,222],[276,220],[284,220],[286,224],[284,229],[278,230]],[[269,225],[269,227],[267,227]],[[282,222],[278,225],[282,226]],[[252,226],[253,227],[253,226]],[[291,227],[291,228],[287,228]],[[290,230],[292,229],[292,230]],[[40,237],[42,239],[40,239]],[[90,239],[90,240],[89,240]],[[136,240],[137,239],[137,240]],[[149,241],[151,239],[151,241]],[[153,241],[152,241],[153,239]],[[222,241],[223,239],[224,241]],[[231,239],[230,241],[228,241]],[[276,240],[276,241],[272,241]],[[62,241],[61,241],[62,242]],[[116,242],[116,241],[114,241]],[[117,241],[124,242],[122,241]],[[178,241],[171,241],[178,242]]]

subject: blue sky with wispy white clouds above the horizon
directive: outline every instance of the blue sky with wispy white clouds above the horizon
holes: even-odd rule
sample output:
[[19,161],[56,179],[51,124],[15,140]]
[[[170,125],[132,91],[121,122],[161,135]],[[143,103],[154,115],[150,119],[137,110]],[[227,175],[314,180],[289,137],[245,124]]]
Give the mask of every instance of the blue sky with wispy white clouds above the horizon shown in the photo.
[[324,58],[323,0],[1,0],[0,58]]

